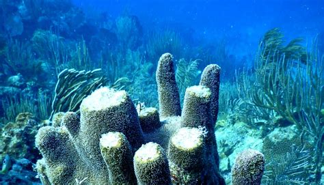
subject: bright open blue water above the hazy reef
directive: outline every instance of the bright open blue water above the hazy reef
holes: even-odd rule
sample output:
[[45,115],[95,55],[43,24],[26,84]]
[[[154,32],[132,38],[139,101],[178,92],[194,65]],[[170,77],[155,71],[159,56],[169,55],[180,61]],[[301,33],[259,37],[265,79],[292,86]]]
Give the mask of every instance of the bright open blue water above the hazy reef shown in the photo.
[[75,1],[85,12],[138,16],[146,31],[173,29],[197,42],[225,39],[234,55],[254,55],[265,31],[280,27],[287,40],[312,40],[324,30],[324,1]]

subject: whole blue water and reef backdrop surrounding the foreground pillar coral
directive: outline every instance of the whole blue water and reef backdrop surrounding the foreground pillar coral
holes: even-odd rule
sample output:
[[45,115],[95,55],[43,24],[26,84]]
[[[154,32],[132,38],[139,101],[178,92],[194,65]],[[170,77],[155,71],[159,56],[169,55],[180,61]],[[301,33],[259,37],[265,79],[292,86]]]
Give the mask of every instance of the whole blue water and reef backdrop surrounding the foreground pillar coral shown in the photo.
[[323,0],[0,0],[0,184],[41,184],[38,129],[80,114],[100,87],[159,109],[163,53],[181,107],[206,66],[221,68],[226,184],[247,149],[264,156],[261,184],[324,184]]

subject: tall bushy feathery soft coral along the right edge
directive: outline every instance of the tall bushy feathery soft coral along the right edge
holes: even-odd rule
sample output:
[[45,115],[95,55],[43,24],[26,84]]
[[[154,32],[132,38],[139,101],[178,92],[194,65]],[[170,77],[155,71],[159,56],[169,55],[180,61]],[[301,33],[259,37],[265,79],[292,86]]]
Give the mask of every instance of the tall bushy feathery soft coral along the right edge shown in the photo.
[[[313,180],[319,184],[324,140],[324,119],[321,116],[324,107],[324,55],[317,52],[316,42],[308,54],[297,40],[284,47],[281,41],[282,34],[278,29],[266,33],[256,56],[253,85],[247,87],[243,80],[237,83],[237,89],[245,102],[275,111],[297,126],[301,139],[312,141]],[[245,72],[243,79],[247,79],[246,75]]]

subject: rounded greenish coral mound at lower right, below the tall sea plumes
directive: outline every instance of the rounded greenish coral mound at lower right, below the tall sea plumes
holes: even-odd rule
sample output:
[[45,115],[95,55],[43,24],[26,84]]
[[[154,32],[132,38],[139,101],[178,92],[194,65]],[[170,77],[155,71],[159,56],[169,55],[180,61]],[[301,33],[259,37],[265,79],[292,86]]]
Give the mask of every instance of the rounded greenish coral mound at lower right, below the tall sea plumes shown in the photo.
[[295,125],[275,128],[270,132],[263,139],[262,151],[267,166],[262,182],[270,184],[310,182],[314,171],[314,165],[310,162],[314,149],[310,142],[311,139],[301,140],[300,132]]

